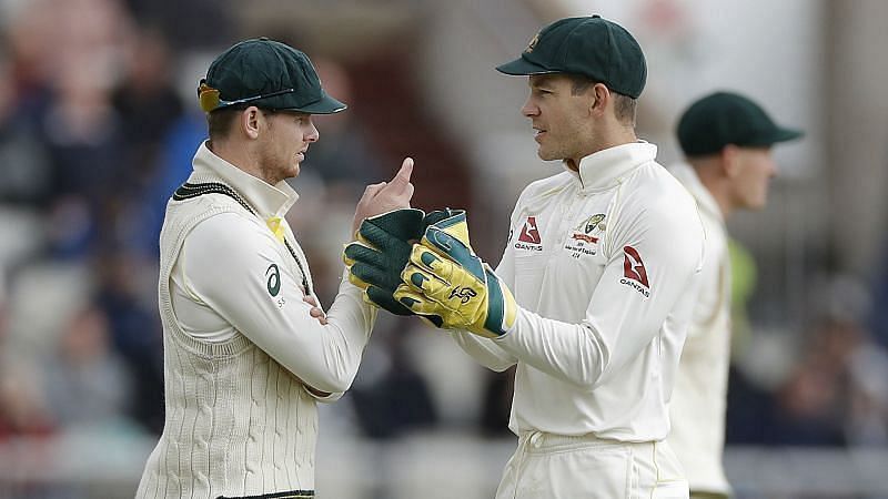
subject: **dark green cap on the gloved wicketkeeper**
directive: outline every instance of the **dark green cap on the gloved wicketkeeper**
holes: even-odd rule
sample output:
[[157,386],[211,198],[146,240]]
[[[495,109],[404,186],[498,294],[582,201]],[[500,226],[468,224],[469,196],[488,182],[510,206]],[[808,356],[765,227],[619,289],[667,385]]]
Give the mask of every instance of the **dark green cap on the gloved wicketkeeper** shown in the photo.
[[496,70],[513,75],[582,74],[633,99],[647,81],[642,47],[625,28],[597,14],[553,22],[534,35],[518,59]]

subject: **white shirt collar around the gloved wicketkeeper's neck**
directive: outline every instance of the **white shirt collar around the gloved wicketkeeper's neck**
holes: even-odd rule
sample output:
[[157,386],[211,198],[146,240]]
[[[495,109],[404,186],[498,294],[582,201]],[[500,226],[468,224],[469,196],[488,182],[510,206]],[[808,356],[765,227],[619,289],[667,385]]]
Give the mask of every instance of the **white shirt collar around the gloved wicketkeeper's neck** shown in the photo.
[[626,173],[656,156],[656,145],[638,141],[589,154],[581,160],[579,172],[565,169],[581,182],[584,191],[596,191],[616,184]]

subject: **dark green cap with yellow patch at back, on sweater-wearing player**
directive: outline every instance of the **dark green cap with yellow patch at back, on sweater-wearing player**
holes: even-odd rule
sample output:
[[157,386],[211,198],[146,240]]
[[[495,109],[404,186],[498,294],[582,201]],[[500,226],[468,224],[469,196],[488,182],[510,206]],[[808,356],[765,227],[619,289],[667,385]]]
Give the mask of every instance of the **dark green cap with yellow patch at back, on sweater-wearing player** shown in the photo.
[[307,55],[264,37],[236,43],[215,58],[198,99],[208,113],[238,104],[310,114],[346,108],[324,92]]

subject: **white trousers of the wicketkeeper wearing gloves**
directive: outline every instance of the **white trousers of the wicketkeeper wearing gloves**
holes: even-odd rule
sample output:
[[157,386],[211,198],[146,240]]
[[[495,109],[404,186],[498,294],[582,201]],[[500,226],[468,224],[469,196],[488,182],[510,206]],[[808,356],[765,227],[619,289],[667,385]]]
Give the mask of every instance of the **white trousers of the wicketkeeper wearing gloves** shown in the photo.
[[506,464],[496,499],[688,499],[664,442],[628,444],[528,431]]

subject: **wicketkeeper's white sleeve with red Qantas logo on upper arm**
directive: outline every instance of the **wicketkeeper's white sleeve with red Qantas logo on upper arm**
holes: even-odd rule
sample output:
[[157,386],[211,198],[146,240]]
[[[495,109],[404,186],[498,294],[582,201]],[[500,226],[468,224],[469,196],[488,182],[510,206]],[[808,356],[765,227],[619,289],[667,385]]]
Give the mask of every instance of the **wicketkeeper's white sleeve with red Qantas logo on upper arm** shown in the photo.
[[606,383],[656,337],[679,297],[696,289],[703,228],[696,212],[675,212],[627,216],[581,324],[519,308],[497,345],[558,379],[588,389]]

